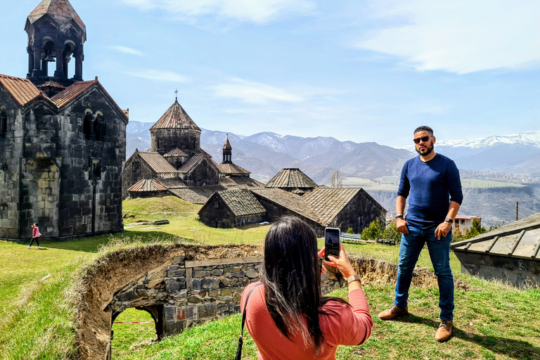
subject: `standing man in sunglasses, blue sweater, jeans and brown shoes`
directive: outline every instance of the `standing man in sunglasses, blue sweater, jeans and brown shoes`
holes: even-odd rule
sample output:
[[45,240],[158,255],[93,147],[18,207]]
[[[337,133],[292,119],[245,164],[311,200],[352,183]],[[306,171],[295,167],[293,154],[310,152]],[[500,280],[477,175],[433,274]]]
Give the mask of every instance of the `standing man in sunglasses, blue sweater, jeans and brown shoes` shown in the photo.
[[[454,312],[454,278],[450,269],[452,223],[458,214],[463,193],[459,172],[454,161],[433,150],[435,136],[430,127],[414,131],[416,152],[420,154],[403,166],[397,191],[396,225],[401,235],[399,266],[394,304],[379,314],[390,320],[407,314],[407,298],[418,255],[428,244],[431,262],[439,283],[441,323],[435,339],[446,341],[452,334]],[[409,210],[404,219],[405,201]]]

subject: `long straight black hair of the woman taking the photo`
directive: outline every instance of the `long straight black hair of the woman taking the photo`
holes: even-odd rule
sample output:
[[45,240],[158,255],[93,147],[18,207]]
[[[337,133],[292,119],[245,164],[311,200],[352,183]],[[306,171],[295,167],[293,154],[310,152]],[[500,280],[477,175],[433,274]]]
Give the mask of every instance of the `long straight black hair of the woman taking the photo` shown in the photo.
[[321,297],[317,238],[308,224],[296,217],[282,217],[271,226],[264,239],[261,280],[266,308],[281,333],[288,339],[300,333],[304,345],[320,352],[324,342],[319,326],[321,305],[328,300],[345,301]]

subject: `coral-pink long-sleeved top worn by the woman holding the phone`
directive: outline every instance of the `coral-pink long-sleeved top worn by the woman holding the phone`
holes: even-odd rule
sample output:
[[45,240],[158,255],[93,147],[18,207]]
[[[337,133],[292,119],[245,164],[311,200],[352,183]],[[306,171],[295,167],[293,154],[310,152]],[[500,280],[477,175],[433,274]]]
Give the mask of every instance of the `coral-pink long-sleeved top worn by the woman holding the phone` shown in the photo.
[[[245,297],[255,284],[251,283],[245,288],[240,302],[240,312],[244,310]],[[292,340],[288,340],[277,328],[266,309],[263,287],[264,285],[258,286],[251,293],[245,316],[245,326],[257,344],[259,360],[335,360],[338,345],[360,345],[371,335],[373,320],[369,314],[364,290],[352,290],[349,293],[351,307],[337,301],[329,301],[323,305],[319,325],[325,344],[321,354],[315,356],[313,348],[304,347],[300,334],[293,334]]]

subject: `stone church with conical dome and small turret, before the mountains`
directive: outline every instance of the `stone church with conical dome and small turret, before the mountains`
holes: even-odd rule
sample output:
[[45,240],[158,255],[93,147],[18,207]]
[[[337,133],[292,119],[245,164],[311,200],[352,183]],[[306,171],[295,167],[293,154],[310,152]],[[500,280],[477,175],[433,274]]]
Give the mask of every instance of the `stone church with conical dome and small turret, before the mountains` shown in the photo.
[[176,99],[150,127],[151,148],[135,150],[122,172],[123,197],[176,195],[205,203],[212,193],[233,186],[264,186],[250,172],[233,164],[226,139],[218,164],[200,148],[201,130]]

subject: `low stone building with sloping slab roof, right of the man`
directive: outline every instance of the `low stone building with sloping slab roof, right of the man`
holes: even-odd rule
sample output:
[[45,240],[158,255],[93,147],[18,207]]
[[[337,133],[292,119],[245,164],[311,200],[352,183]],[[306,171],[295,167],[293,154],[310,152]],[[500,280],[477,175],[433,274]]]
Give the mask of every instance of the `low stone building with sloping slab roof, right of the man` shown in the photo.
[[453,243],[451,249],[463,274],[518,287],[540,285],[540,213]]

